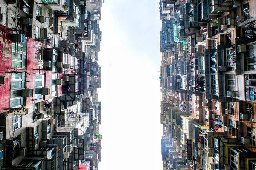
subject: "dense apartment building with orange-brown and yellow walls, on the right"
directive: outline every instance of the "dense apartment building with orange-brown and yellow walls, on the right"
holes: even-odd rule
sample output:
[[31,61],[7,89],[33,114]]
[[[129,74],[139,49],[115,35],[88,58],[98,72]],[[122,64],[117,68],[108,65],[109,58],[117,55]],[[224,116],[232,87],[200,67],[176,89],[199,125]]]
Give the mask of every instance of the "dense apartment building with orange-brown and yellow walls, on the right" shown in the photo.
[[256,1],[160,0],[163,170],[254,170]]

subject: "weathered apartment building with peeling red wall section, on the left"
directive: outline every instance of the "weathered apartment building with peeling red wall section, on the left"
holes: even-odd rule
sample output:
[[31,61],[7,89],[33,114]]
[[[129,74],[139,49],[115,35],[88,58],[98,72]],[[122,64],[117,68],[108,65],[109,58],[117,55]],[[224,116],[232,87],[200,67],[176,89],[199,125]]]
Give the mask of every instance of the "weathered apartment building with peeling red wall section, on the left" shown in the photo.
[[0,169],[98,169],[102,2],[0,1]]

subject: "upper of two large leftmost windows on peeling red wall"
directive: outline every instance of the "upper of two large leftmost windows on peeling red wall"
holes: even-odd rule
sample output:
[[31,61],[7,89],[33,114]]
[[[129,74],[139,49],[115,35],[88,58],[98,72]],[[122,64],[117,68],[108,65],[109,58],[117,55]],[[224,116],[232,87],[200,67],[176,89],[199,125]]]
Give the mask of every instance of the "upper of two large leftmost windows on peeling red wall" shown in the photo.
[[27,38],[24,42],[12,43],[12,68],[26,69]]

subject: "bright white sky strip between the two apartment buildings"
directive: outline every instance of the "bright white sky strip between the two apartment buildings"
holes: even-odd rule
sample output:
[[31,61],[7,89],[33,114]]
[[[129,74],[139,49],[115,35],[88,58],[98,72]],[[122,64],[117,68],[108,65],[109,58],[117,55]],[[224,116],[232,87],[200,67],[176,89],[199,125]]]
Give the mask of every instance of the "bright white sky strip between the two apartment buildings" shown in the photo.
[[[99,170],[162,170],[159,0],[105,0]],[[111,65],[110,65],[111,64]]]

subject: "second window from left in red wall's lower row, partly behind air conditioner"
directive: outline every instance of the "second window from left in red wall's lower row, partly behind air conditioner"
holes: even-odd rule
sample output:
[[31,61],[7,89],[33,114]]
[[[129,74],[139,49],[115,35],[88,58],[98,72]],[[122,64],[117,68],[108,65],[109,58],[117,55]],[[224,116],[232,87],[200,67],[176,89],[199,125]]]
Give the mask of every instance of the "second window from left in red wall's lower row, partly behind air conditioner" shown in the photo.
[[44,100],[44,95],[41,94],[41,88],[44,88],[44,74],[35,74],[35,102]]

